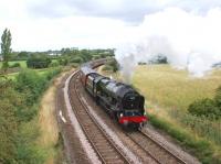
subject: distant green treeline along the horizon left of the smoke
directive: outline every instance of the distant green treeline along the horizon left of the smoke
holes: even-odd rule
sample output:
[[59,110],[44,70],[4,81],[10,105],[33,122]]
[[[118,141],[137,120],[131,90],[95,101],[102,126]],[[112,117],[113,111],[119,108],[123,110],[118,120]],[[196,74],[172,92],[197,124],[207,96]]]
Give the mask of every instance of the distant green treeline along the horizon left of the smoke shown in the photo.
[[[62,48],[61,51],[46,52],[13,52],[10,55],[10,61],[27,61],[29,68],[48,68],[59,65],[78,66],[82,63],[91,59],[98,59],[114,56],[115,50],[78,50],[78,48]],[[52,62],[52,59],[55,59]],[[15,63],[13,67],[19,67]]]

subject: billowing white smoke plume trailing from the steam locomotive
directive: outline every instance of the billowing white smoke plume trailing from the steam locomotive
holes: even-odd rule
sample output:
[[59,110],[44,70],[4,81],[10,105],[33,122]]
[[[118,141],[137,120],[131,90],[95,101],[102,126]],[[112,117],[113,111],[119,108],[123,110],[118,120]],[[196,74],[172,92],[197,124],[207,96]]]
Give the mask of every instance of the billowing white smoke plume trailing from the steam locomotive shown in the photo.
[[[178,8],[148,14],[116,51],[122,74],[129,81],[135,66],[162,54],[176,68],[201,77],[221,62],[221,9],[204,15]],[[136,37],[134,37],[136,35]],[[129,37],[130,36],[130,37]]]

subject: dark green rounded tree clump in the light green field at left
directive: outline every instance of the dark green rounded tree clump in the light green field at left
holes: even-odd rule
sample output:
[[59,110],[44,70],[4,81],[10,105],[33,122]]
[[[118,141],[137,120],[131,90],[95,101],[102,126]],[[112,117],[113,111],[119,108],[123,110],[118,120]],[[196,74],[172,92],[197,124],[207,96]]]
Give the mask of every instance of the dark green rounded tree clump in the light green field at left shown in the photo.
[[46,55],[32,55],[27,61],[29,68],[48,68],[51,64],[51,58]]

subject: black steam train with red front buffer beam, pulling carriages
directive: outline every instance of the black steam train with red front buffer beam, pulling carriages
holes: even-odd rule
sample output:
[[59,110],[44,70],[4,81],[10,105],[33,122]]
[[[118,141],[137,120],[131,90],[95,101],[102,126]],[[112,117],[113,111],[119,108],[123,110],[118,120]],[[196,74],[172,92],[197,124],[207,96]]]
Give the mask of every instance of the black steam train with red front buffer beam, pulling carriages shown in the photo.
[[145,113],[145,98],[131,86],[99,75],[95,67],[106,61],[84,64],[80,68],[80,79],[97,105],[124,128],[140,129],[148,121]]

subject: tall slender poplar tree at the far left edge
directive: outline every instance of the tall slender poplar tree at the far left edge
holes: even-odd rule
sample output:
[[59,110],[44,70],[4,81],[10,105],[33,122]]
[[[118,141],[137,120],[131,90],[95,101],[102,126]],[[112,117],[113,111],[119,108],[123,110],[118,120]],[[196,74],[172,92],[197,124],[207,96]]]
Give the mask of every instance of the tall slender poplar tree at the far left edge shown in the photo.
[[1,36],[1,55],[3,58],[2,68],[4,73],[9,67],[9,57],[11,54],[11,32],[10,30],[6,29]]

